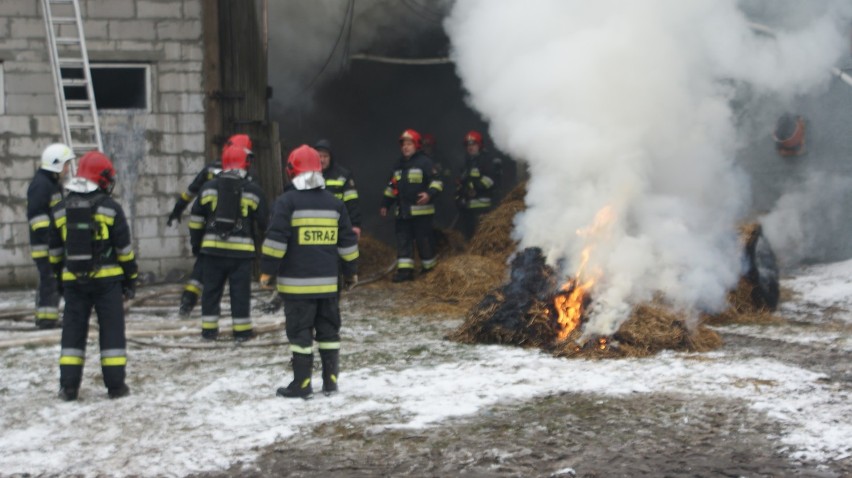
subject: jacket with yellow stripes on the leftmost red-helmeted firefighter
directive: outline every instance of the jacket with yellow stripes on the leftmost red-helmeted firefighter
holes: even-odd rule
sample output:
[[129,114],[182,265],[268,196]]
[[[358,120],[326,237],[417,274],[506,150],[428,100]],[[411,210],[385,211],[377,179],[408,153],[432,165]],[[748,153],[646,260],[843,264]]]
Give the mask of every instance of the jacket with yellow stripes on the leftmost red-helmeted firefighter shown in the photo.
[[[68,256],[66,238],[68,237],[68,224],[66,218],[66,204],[75,204],[78,200],[87,201],[91,204],[91,224],[93,237],[91,238],[91,264],[92,268],[85,275],[70,272],[68,267],[70,261],[80,258]],[[50,262],[65,266],[62,272],[63,282],[88,282],[90,280],[100,282],[133,282],[136,280],[138,267],[136,256],[133,253],[133,244],[130,239],[130,228],[124,210],[113,198],[102,191],[91,193],[71,192],[53,208],[55,233],[51,234]]]

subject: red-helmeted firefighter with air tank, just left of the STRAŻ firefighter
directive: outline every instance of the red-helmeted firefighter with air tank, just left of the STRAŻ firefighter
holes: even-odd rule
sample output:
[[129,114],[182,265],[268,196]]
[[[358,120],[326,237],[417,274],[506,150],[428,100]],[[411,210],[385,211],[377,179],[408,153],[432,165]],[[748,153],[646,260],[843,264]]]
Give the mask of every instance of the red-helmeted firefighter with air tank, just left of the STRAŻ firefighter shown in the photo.
[[255,240],[269,218],[266,196],[248,177],[251,151],[232,145],[222,153],[222,172],[201,188],[189,220],[190,243],[204,271],[201,337],[219,336],[220,302],[230,286],[234,340],[254,336],[250,299]]

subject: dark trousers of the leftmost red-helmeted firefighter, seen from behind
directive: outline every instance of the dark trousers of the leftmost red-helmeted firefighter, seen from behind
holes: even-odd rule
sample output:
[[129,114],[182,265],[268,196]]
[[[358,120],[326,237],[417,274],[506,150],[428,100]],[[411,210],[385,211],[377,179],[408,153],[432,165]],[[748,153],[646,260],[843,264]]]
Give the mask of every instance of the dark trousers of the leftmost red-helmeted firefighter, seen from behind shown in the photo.
[[104,385],[107,388],[124,385],[127,340],[124,336],[121,282],[89,280],[86,283],[65,282],[65,317],[59,357],[59,385],[62,387],[80,386],[92,307],[98,316]]

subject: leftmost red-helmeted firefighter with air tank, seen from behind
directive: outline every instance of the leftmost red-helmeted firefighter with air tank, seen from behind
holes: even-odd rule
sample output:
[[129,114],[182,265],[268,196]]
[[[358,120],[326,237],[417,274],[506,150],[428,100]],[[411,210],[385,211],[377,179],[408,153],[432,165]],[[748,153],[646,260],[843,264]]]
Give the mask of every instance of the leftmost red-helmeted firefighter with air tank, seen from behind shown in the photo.
[[115,168],[99,151],[83,155],[69,193],[53,209],[56,233],[51,235],[51,260],[61,264],[65,289],[62,351],[59,356],[59,398],[77,399],[83,377],[86,339],[92,307],[98,316],[101,371],[109,398],[130,393],[124,299],[136,290],[136,258],[124,210],[110,195]]

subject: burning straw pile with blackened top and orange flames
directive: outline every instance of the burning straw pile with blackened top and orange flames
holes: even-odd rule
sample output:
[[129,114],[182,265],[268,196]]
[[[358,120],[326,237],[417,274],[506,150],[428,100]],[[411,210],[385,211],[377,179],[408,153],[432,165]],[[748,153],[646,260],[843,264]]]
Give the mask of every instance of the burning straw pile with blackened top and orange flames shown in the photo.
[[[568,288],[559,292],[556,273],[545,264],[541,250],[525,249],[512,261],[510,281],[471,309],[450,339],[537,347],[564,357],[642,357],[663,349],[713,350],[722,343],[719,335],[706,327],[690,330],[685,317],[661,300],[635,307],[611,337],[581,342],[580,325],[590,297],[580,291],[575,295],[576,303],[563,302],[561,307],[554,300],[560,294],[571,296],[573,291]],[[573,320],[564,320],[566,313],[574,313]]]

